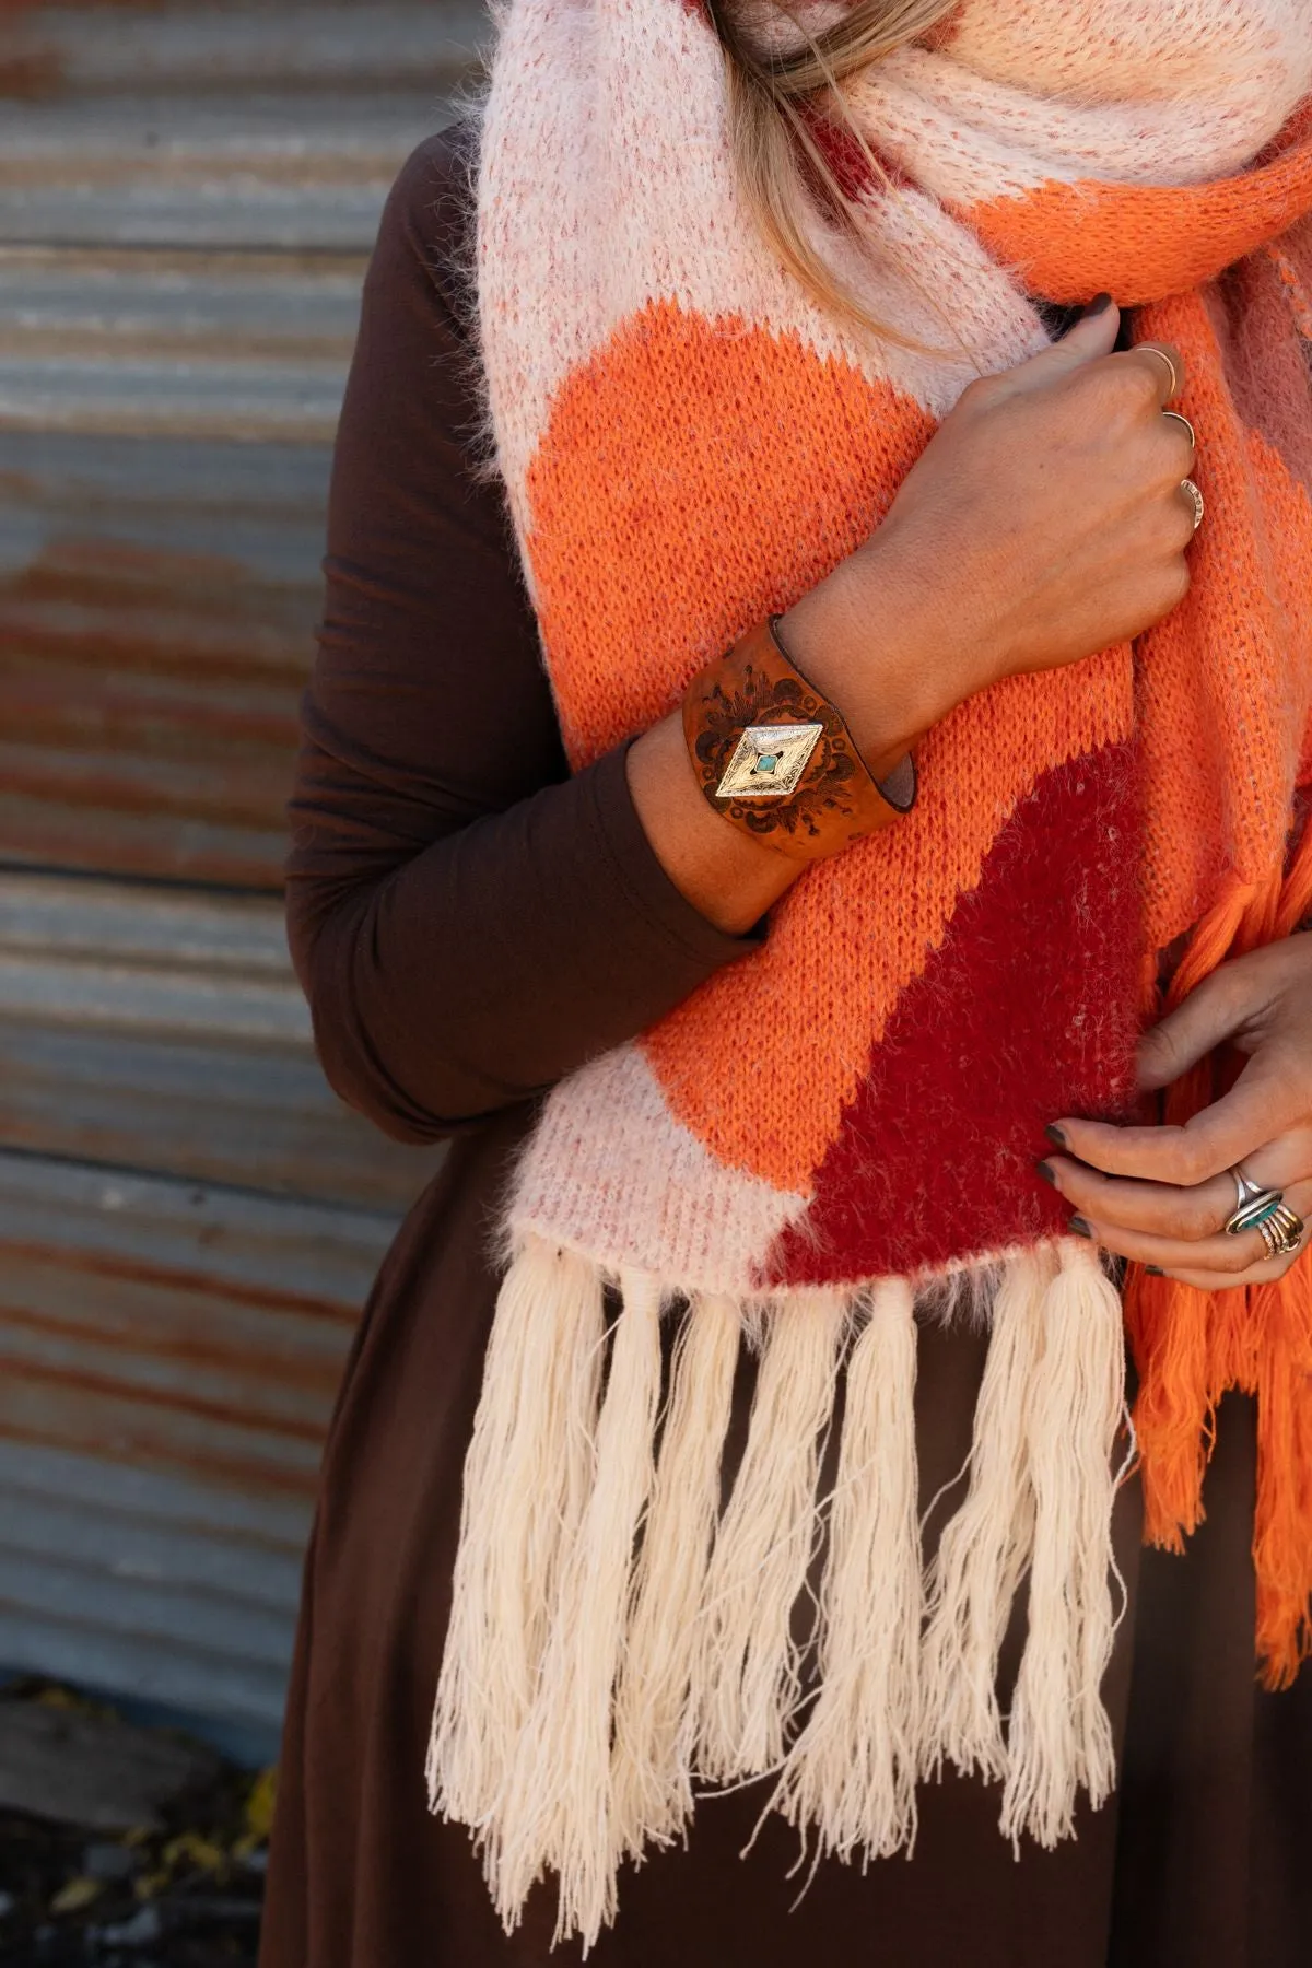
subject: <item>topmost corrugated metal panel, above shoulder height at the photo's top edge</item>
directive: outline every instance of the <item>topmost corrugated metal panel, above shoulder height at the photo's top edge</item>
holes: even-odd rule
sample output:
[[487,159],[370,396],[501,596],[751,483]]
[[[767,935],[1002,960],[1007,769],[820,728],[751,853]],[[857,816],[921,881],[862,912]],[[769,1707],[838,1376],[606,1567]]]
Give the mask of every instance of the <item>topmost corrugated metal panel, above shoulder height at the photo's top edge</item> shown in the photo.
[[484,37],[452,4],[0,16],[0,238],[368,248]]

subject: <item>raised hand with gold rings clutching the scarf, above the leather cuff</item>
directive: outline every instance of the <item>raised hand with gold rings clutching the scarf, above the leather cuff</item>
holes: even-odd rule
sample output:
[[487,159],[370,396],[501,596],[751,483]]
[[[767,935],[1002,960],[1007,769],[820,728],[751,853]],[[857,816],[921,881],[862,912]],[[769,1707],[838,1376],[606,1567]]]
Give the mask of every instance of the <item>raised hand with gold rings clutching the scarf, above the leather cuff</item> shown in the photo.
[[1115,354],[1117,327],[1107,305],[972,384],[869,541],[783,618],[877,773],[976,691],[1127,642],[1184,598],[1192,443],[1163,415],[1166,362]]

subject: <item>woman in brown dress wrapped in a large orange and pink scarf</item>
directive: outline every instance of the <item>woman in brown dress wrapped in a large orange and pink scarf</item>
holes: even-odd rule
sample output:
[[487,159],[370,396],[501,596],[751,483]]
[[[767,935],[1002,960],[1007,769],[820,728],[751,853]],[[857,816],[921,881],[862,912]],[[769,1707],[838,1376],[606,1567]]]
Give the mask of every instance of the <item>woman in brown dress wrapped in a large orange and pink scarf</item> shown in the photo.
[[515,0],[403,175],[291,935],[454,1145],[266,1968],[1306,1958],[1310,94],[1294,0]]

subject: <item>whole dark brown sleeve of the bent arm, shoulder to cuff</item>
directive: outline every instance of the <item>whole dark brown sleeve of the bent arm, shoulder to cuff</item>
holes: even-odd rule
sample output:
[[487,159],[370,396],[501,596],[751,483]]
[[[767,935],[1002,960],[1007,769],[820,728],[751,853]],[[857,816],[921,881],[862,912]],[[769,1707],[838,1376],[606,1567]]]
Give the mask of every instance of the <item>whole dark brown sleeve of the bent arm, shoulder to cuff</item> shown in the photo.
[[401,173],[336,445],[287,919],[330,1082],[433,1139],[641,1031],[753,945],[675,890],[624,754],[567,775],[454,272],[468,140]]

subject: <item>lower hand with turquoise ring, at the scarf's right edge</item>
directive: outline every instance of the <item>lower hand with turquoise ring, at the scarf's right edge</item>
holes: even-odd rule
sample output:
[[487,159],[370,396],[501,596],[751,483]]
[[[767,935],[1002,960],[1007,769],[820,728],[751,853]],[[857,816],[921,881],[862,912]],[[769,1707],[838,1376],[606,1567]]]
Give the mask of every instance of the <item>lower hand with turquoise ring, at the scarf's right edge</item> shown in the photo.
[[1257,1230],[1225,1232],[1237,1204],[1235,1163],[1312,1218],[1312,935],[1237,956],[1206,978],[1143,1039],[1143,1092],[1168,1086],[1222,1043],[1247,1053],[1247,1065],[1184,1128],[1062,1118],[1048,1134],[1066,1153],[1039,1165],[1076,1210],[1072,1228],[1204,1291],[1269,1283],[1298,1256],[1267,1258]]

